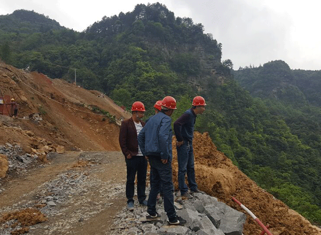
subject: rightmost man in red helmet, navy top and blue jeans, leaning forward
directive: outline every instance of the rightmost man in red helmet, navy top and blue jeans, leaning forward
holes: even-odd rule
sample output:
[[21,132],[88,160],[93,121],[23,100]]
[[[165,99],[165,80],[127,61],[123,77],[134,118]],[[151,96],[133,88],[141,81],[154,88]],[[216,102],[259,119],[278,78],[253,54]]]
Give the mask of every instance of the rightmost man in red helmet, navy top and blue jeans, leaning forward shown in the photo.
[[178,181],[182,199],[188,199],[192,197],[188,192],[189,188],[185,183],[186,174],[191,193],[201,192],[197,188],[197,183],[195,180],[192,141],[196,116],[198,114],[202,114],[205,111],[205,105],[206,103],[204,98],[202,96],[196,96],[193,99],[192,108],[188,109],[174,123],[174,131],[177,140],[177,161],[179,163]]

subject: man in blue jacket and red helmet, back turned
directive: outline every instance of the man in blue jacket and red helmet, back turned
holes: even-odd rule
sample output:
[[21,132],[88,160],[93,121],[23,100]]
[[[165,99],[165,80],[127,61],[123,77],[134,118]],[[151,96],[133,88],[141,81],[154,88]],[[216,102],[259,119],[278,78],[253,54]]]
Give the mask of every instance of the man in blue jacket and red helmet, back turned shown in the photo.
[[162,101],[162,111],[152,116],[140,131],[137,140],[141,152],[150,164],[150,192],[147,201],[146,220],[160,215],[156,211],[156,197],[162,187],[164,208],[173,225],[185,224],[186,220],[176,215],[174,207],[174,185],[172,179],[172,119],[176,100],[167,96]]

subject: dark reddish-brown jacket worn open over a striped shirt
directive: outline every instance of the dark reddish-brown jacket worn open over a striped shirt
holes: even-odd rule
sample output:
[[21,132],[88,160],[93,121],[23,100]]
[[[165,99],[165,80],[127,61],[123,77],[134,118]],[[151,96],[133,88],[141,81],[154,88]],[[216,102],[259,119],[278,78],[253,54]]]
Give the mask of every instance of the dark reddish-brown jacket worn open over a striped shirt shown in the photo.
[[[145,123],[140,121],[141,125]],[[138,153],[137,131],[132,117],[121,122],[119,131],[119,145],[125,157],[136,156]]]

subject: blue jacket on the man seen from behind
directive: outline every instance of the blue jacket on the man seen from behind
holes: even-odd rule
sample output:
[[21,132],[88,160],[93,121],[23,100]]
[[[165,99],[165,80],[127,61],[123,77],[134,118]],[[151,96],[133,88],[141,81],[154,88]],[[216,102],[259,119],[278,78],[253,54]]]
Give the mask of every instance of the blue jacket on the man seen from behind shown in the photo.
[[172,119],[159,112],[149,118],[137,140],[144,156],[155,155],[172,162]]

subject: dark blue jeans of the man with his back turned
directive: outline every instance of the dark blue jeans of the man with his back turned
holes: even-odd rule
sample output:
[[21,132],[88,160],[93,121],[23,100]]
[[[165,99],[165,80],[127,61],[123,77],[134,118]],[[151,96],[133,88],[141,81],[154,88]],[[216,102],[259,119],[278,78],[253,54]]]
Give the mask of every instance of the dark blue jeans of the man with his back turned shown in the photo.
[[172,179],[172,162],[164,164],[160,156],[148,156],[150,164],[150,192],[147,201],[147,212],[156,213],[156,197],[162,187],[164,209],[168,218],[174,219],[176,211],[174,207],[174,185]]

